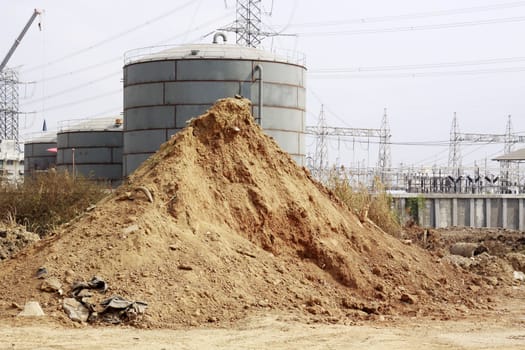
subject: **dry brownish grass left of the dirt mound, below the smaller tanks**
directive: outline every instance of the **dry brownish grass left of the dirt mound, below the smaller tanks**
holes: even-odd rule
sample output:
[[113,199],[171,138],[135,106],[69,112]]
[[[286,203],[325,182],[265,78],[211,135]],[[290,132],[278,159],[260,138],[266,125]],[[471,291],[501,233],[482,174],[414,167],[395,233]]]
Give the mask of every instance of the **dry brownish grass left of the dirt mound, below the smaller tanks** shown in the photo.
[[107,186],[68,173],[48,172],[27,177],[18,184],[0,184],[2,221],[15,221],[44,236],[106,193]]

